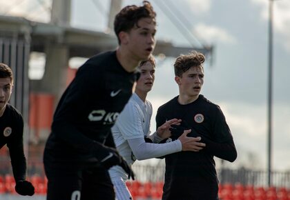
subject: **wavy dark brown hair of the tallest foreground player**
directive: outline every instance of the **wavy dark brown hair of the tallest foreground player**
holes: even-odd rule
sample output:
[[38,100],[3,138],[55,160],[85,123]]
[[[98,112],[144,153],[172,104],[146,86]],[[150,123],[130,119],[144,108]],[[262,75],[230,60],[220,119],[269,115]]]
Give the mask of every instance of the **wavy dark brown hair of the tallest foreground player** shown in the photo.
[[118,43],[119,32],[129,32],[137,23],[139,19],[151,18],[155,22],[156,13],[148,1],[143,1],[143,6],[126,6],[115,16],[114,30],[117,35]]

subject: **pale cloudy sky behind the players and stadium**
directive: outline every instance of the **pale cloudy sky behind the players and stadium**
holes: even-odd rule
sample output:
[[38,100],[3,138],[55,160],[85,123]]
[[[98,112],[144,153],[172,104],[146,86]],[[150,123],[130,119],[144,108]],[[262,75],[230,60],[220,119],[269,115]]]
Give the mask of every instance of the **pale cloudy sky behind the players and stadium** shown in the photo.
[[[19,6],[12,7],[17,2]],[[189,47],[191,43],[165,12],[164,2],[195,36],[192,43],[214,46],[213,62],[205,66],[201,93],[220,105],[231,128],[238,159],[226,164],[266,169],[269,1],[151,0],[157,12],[156,38]],[[0,3],[1,14],[21,13],[33,21],[50,19],[51,0]],[[72,0],[71,26],[105,31],[109,4],[108,0]],[[141,5],[142,1],[123,0],[123,6],[131,4]],[[174,58],[157,62],[155,86],[148,94],[154,110],[152,131],[157,108],[178,94],[173,63]],[[273,170],[290,169],[289,74],[290,1],[277,0],[273,2]]]

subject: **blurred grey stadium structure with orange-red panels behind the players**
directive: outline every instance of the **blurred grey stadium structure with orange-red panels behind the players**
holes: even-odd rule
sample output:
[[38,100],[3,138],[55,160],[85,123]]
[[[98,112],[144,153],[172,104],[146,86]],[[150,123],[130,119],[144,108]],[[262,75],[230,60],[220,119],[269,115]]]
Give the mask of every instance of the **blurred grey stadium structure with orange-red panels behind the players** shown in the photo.
[[[50,132],[52,114],[61,94],[75,75],[75,70],[69,68],[69,59],[88,58],[117,48],[113,20],[122,8],[122,1],[111,0],[106,32],[72,28],[70,8],[70,0],[52,1],[50,23],[0,15],[0,62],[7,63],[14,71],[15,86],[10,103],[23,114],[28,168],[36,171],[39,168],[42,170],[43,145]],[[177,57],[191,50],[211,54],[212,47],[180,47],[157,40],[153,54]],[[46,55],[45,72],[40,80],[28,79],[31,52]]]

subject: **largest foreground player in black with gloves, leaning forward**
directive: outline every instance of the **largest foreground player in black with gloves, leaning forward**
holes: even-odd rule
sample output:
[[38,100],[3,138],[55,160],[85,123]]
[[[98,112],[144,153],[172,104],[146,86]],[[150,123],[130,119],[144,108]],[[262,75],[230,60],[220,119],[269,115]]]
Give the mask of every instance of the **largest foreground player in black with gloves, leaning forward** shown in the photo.
[[117,50],[88,59],[62,95],[43,155],[48,200],[115,200],[108,169],[119,165],[133,176],[110,128],[131,97],[135,68],[154,50],[155,26],[148,1],[123,8],[114,22]]

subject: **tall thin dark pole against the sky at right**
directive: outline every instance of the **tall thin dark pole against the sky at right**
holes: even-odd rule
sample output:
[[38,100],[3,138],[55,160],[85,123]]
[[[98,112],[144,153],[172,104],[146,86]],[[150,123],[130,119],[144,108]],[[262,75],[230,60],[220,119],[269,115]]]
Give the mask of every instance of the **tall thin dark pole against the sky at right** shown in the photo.
[[273,0],[269,0],[269,74],[268,74],[268,186],[271,186],[272,161],[272,75],[273,75]]

